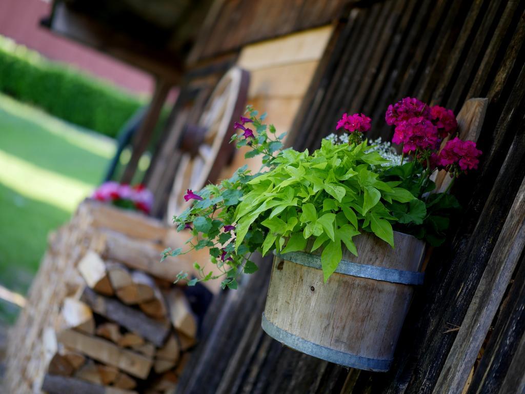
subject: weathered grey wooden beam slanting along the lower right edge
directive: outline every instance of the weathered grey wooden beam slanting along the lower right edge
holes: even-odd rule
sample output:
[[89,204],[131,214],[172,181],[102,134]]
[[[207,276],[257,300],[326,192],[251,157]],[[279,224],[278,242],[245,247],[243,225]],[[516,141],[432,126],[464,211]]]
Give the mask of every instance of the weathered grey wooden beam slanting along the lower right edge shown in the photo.
[[445,361],[434,393],[463,390],[525,246],[525,179]]

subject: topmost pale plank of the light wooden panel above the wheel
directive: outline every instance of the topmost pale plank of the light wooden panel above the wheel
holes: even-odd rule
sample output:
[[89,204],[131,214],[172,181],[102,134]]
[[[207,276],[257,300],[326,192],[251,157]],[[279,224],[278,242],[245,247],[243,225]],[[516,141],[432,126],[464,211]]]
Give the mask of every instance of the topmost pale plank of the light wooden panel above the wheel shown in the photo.
[[[237,65],[252,71],[318,60],[323,54],[331,33],[332,27],[324,26],[249,45],[241,51]],[[271,56],[268,56],[270,53]]]

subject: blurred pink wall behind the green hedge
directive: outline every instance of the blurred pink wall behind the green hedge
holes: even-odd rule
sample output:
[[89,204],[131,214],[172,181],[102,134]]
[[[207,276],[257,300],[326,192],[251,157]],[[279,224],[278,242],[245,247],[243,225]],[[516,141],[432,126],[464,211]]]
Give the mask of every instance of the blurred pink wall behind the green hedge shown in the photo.
[[151,93],[153,78],[149,74],[40,27],[40,19],[50,14],[50,8],[50,1],[44,0],[0,0],[0,34],[128,90]]

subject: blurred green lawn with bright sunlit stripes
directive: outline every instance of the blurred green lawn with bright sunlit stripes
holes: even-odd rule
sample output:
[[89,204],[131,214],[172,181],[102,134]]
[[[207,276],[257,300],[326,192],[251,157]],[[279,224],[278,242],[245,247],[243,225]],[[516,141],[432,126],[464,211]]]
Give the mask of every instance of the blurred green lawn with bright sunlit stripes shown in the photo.
[[0,284],[25,294],[48,232],[100,183],[114,150],[113,140],[0,95]]

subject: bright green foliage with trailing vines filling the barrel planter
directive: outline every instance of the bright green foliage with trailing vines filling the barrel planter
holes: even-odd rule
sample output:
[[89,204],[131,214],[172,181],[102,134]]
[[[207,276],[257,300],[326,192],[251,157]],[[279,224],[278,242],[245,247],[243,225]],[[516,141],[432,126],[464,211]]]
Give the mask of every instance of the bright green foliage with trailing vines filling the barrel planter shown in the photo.
[[[448,190],[430,193],[435,188],[430,175],[437,167],[430,165],[432,149],[418,148],[414,158],[403,163],[404,155],[398,157],[389,143],[370,145],[363,138],[370,118],[344,114],[337,127],[348,132],[344,138],[331,136],[312,153],[298,152],[282,149],[284,135],[276,137],[275,127],[263,123],[265,115],[258,117],[248,107],[247,116],[235,124],[241,133],[234,134],[232,142],[251,147],[246,158],[262,155],[262,168],[251,174],[244,166],[218,185],[197,193],[188,190],[185,200],[195,202],[173,221],[178,231],[190,230],[189,248],[169,248],[162,257],[208,248],[220,274],[195,263],[199,277],[181,272],[177,281],[194,285],[224,276],[223,288],[237,288],[238,275],[258,269],[253,253],[271,251],[320,253],[327,281],[343,248],[358,254],[353,238],[363,232],[392,247],[394,230],[433,245],[442,242],[449,215],[459,204]],[[452,169],[459,172],[457,165]]]

